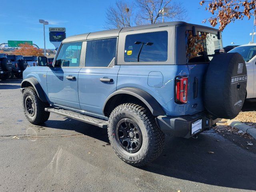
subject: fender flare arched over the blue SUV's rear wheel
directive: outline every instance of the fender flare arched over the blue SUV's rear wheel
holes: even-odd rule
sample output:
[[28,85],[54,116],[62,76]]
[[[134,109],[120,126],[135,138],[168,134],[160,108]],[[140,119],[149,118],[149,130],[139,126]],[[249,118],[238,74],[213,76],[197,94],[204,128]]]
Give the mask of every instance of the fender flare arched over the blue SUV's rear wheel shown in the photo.
[[162,106],[158,103],[158,101],[153,96],[151,96],[149,93],[147,93],[144,90],[141,90],[138,88],[132,88],[132,87],[122,88],[110,94],[110,96],[108,96],[108,98],[106,99],[103,105],[103,108],[102,108],[103,114],[104,114],[104,109],[106,107],[106,104],[108,103],[110,98],[118,94],[128,94],[138,98],[148,107],[148,109],[150,110],[153,116],[166,115]]

